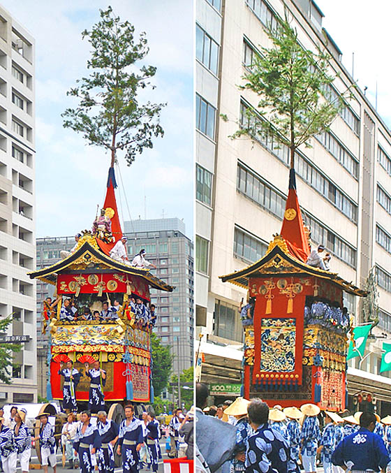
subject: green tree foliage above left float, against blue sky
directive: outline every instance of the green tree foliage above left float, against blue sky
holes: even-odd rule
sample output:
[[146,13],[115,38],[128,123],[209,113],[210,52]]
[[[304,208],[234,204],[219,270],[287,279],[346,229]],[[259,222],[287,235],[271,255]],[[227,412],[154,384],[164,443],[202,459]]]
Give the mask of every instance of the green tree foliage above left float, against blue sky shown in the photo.
[[67,108],[61,115],[64,127],[82,133],[89,145],[111,151],[114,166],[117,150],[125,152],[130,165],[137,153],[153,147],[153,138],[163,136],[159,123],[164,103],[140,103],[139,92],[154,86],[150,80],[156,67],[141,65],[149,52],[145,33],[135,38],[134,26],[107,10],[100,10],[101,20],[82,38],[91,45],[88,77],[76,80],[67,95],[79,100],[77,108]]

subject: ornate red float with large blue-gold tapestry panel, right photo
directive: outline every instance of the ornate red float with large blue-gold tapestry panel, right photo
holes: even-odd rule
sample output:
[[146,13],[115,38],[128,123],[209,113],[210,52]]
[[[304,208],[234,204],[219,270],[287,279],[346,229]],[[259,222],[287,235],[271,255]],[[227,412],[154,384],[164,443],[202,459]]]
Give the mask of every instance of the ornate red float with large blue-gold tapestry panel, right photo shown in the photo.
[[297,200],[295,170],[281,233],[263,258],[221,276],[249,291],[244,326],[243,384],[246,399],[270,405],[345,409],[348,334],[351,318],[344,292],[367,296],[337,273],[306,263],[309,231]]

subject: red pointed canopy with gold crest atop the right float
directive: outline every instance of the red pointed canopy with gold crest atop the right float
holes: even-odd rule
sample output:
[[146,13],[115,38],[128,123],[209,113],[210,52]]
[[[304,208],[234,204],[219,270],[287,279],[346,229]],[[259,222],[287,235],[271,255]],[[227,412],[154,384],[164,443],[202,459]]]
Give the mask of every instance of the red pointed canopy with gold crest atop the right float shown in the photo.
[[310,253],[309,242],[304,231],[302,212],[296,194],[295,170],[290,169],[289,192],[286,199],[281,236],[286,240],[290,254],[300,261],[307,262]]

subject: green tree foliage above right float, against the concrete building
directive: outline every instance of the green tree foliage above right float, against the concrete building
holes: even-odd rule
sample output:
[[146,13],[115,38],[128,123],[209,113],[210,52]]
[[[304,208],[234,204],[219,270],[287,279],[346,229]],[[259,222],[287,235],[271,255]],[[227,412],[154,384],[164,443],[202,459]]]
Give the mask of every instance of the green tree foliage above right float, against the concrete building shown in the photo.
[[[310,146],[311,137],[327,131],[339,110],[346,105],[344,94],[330,94],[337,77],[330,71],[330,55],[318,45],[316,52],[306,50],[290,26],[288,13],[278,26],[267,28],[272,46],[254,52],[253,64],[244,75],[245,84],[258,95],[256,110],[246,109],[246,117],[233,138],[249,135],[259,139],[272,136],[290,149],[294,167],[295,150]],[[226,118],[223,116],[223,118]]]

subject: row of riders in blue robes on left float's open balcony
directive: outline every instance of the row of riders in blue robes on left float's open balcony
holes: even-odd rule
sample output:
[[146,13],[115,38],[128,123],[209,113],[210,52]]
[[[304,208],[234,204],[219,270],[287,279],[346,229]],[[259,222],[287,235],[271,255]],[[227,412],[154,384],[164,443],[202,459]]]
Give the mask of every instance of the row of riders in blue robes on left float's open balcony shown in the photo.
[[[73,298],[59,297],[56,300],[48,297],[44,300],[43,316],[47,321],[53,316],[57,317],[56,308],[61,303],[59,319],[63,322],[75,321],[115,321],[120,314],[124,314],[129,320],[134,318],[138,326],[149,326],[153,328],[156,323],[156,307],[154,304],[145,303],[139,296],[130,296],[124,303],[119,298],[115,298],[113,303],[110,299],[101,303],[101,310],[94,310],[96,304],[91,307],[84,305],[79,307]],[[98,301],[99,302],[99,301]]]

